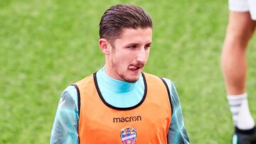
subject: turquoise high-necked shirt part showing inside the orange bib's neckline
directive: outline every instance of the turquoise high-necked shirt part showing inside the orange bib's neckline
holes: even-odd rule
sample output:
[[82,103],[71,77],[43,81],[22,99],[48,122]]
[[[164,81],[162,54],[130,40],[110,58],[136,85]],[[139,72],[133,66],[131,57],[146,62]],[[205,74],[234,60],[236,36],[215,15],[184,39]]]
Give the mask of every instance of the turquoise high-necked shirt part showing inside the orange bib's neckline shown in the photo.
[[139,104],[144,96],[144,80],[140,74],[137,82],[124,82],[110,77],[105,67],[96,73],[97,84],[105,101],[115,107],[126,108]]

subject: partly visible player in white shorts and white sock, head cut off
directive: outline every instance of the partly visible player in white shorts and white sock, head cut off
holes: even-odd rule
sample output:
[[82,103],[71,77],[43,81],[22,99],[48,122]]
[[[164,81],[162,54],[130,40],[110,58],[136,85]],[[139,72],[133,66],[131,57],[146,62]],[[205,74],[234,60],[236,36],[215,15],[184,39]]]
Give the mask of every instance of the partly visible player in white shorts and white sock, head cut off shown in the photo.
[[233,143],[256,143],[256,128],[245,89],[246,49],[256,26],[255,0],[229,0],[230,16],[222,52],[228,103],[233,114]]

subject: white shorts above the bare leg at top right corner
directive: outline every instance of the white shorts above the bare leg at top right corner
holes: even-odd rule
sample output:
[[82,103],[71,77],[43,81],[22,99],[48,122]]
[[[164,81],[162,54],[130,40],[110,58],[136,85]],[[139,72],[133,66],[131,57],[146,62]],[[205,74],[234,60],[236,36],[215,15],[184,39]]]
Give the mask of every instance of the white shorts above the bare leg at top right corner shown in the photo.
[[230,11],[250,11],[252,20],[256,21],[256,0],[228,0]]

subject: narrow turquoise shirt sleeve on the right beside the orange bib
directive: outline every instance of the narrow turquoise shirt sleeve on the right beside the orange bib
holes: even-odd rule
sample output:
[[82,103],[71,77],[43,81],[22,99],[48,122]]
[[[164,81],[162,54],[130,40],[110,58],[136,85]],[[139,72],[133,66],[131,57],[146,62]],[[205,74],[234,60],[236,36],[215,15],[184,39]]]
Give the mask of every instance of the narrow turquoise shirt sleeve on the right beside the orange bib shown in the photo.
[[178,99],[178,93],[174,83],[170,79],[164,79],[169,87],[171,94],[171,106],[172,106],[172,115],[171,115],[171,125],[168,131],[168,141],[169,144],[176,143],[190,143],[188,138],[188,133],[184,126],[183,114],[181,111],[181,103]]

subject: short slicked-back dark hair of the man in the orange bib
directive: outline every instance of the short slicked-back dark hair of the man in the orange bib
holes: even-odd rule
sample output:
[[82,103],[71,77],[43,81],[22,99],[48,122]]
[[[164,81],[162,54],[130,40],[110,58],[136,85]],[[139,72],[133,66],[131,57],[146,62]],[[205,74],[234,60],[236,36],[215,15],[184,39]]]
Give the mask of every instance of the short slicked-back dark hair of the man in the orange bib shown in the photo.
[[123,28],[152,28],[149,14],[139,6],[117,4],[107,9],[100,21],[100,38],[113,43],[122,34]]

